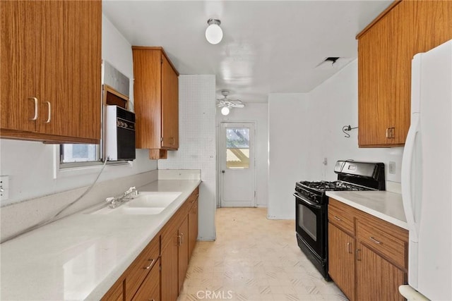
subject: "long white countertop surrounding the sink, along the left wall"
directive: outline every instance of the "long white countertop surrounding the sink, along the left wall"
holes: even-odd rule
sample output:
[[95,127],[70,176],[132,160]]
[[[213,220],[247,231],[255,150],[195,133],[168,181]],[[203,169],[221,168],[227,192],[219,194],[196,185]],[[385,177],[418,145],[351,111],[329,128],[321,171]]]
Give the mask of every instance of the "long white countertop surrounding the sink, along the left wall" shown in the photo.
[[102,203],[4,242],[0,299],[100,300],[200,183],[157,180],[138,188],[182,192],[160,214],[86,214]]

